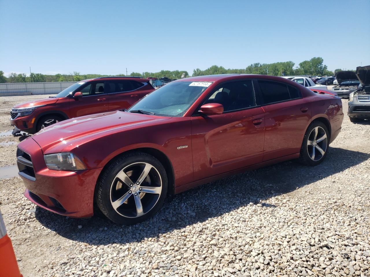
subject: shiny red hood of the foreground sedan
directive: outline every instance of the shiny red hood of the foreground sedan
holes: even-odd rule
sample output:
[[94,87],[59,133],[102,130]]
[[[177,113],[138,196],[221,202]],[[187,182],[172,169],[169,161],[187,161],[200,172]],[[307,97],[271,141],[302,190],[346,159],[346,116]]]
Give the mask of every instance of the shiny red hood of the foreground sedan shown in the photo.
[[[53,124],[32,135],[32,138],[41,147],[44,154],[57,153],[67,146],[78,145],[82,140],[102,135],[108,131],[170,118],[121,111],[98,113]],[[53,150],[57,152],[53,152]]]

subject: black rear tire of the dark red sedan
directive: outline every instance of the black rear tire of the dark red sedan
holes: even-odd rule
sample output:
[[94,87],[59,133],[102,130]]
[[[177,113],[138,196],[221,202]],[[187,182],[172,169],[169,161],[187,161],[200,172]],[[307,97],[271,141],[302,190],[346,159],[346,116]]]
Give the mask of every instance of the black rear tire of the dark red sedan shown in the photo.
[[[316,127],[317,127],[317,130],[319,131],[318,131],[316,139],[314,139],[313,130]],[[320,138],[324,137],[323,132],[325,132],[326,139],[316,143],[316,140],[319,140]],[[313,144],[311,143],[308,143],[309,141],[314,142],[315,146],[313,146]],[[327,130],[327,127],[325,126],[325,124],[320,121],[312,122],[308,126],[305,136],[303,137],[303,142],[302,142],[302,146],[300,149],[299,162],[304,165],[310,165],[310,166],[315,166],[315,165],[322,163],[329,150],[329,141],[330,141],[329,131]],[[319,148],[321,150],[324,150],[323,155],[318,150]],[[317,154],[316,154],[316,151],[317,151]]]

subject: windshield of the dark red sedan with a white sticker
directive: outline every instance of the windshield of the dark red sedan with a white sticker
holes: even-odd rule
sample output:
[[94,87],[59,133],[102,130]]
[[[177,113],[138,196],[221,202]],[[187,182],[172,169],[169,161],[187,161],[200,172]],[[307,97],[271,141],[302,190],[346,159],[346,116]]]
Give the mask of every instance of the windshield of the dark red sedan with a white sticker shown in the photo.
[[128,111],[144,110],[159,116],[180,117],[209,85],[211,82],[171,82],[149,93]]

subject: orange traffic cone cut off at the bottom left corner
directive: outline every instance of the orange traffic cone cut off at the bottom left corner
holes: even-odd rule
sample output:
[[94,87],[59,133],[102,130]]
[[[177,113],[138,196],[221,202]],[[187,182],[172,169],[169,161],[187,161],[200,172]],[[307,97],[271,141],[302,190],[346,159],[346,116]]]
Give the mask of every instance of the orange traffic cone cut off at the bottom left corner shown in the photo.
[[0,210],[0,277],[22,277]]

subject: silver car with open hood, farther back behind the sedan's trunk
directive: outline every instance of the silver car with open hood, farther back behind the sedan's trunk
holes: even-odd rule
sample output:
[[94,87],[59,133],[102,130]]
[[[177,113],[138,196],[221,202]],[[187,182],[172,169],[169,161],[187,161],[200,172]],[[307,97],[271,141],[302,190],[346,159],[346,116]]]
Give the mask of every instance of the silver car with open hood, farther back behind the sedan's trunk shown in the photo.
[[351,92],[354,92],[361,86],[361,82],[357,79],[356,73],[353,71],[339,71],[335,74],[338,85],[332,88],[339,97],[349,97]]

